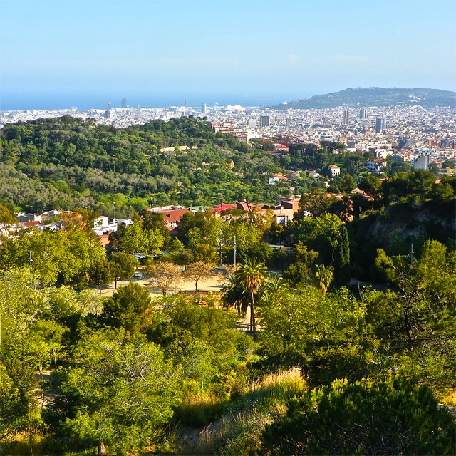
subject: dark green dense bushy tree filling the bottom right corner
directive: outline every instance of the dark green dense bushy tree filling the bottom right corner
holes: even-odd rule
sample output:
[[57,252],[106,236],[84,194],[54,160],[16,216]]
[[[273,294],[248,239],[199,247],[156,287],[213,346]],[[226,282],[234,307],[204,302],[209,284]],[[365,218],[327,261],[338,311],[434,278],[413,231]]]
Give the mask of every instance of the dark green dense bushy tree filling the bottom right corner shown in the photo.
[[266,426],[263,455],[450,454],[456,425],[432,391],[409,380],[336,380],[308,390]]

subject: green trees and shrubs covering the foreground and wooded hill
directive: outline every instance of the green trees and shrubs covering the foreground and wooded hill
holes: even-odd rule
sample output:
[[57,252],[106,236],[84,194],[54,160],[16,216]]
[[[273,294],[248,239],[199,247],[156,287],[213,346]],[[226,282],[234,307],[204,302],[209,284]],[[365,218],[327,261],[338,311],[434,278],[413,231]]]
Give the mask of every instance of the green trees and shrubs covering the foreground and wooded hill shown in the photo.
[[[165,145],[197,150],[162,154]],[[291,160],[331,157],[306,149]],[[346,170],[356,165],[339,152]],[[175,238],[161,214],[140,211],[212,192],[237,199],[236,189],[266,201],[275,190],[261,190],[261,172],[279,162],[263,153],[191,118],[125,130],[63,118],[1,131],[1,169],[29,173],[28,196],[12,192],[14,205],[65,193],[74,207],[78,198],[134,210],[108,256],[82,209],[62,231],[1,239],[0,454],[455,452],[456,180],[353,175],[368,197],[350,193],[348,178],[335,183],[337,197],[310,184],[286,227],[270,211],[188,212]],[[233,170],[203,164],[231,160]],[[135,186],[133,175],[145,180]],[[14,206],[1,202],[8,222]],[[103,297],[115,278],[132,278],[138,252],[162,296],[130,281]],[[222,292],[198,296],[215,271]],[[175,294],[183,279],[195,296]]]

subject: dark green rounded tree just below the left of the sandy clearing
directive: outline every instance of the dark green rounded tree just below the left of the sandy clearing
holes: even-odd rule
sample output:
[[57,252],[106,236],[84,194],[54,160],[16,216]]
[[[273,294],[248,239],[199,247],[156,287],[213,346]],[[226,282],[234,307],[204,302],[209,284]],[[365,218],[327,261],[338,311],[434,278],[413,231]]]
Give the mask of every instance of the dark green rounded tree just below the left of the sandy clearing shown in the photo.
[[151,304],[149,292],[130,282],[106,299],[100,318],[106,326],[137,333],[148,325],[147,310]]

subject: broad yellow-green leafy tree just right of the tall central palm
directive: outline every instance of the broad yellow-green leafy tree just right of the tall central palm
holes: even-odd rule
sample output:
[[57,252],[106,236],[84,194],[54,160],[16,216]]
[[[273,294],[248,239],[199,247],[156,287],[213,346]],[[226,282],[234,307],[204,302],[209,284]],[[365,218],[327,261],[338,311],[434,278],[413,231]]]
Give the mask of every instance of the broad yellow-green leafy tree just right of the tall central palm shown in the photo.
[[[353,377],[350,372],[353,366],[346,366],[345,371],[334,368],[326,353],[356,346],[363,326],[363,307],[347,289],[322,296],[314,286],[303,286],[296,293],[281,286],[271,291],[266,284],[258,312],[262,328],[261,353],[278,359],[285,366],[299,362],[309,381],[318,378],[317,384],[322,378],[330,381],[337,378],[337,373]],[[312,362],[317,356],[325,359],[314,367]]]

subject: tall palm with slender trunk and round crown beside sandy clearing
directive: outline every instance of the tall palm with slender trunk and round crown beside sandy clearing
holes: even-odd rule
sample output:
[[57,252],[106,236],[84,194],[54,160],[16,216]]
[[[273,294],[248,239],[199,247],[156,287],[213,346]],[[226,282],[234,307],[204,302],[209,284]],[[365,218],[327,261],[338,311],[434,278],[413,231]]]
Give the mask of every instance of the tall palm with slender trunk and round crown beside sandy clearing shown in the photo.
[[235,280],[250,296],[250,331],[254,338],[257,337],[257,328],[255,326],[255,295],[258,293],[261,285],[266,282],[267,268],[256,258],[248,258],[244,264],[239,265]]

